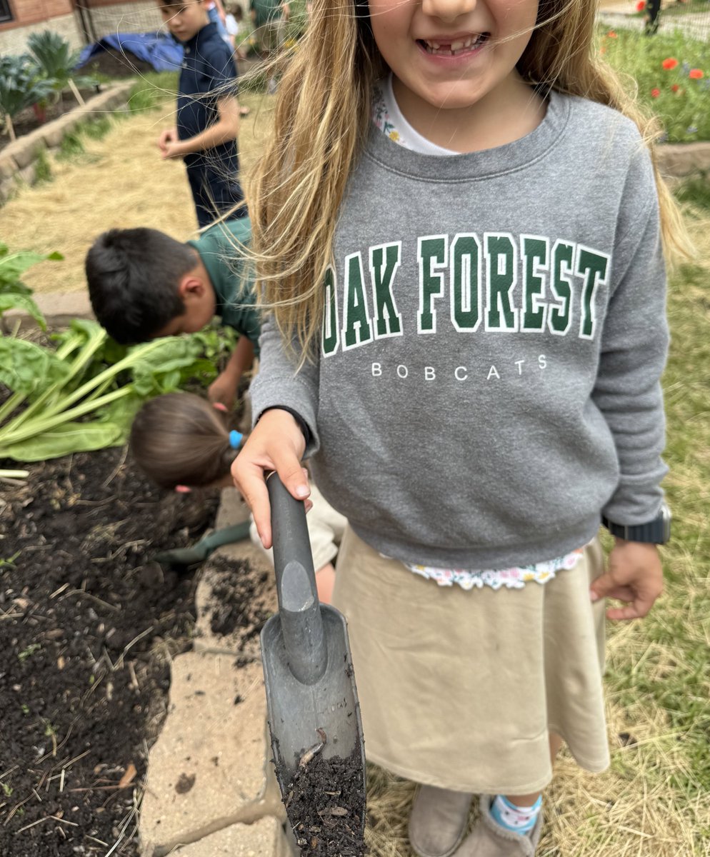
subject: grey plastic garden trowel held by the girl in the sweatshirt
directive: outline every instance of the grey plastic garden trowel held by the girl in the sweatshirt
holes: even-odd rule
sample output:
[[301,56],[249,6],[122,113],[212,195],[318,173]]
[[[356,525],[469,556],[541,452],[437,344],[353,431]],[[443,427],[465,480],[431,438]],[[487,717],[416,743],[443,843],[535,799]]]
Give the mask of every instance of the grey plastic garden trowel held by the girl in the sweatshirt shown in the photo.
[[[318,601],[304,503],[268,476],[279,613],[262,629],[262,663],[276,779],[289,813],[289,783],[313,752],[353,758],[364,742],[346,620]],[[357,813],[362,835],[364,804]]]

